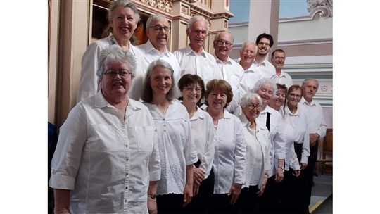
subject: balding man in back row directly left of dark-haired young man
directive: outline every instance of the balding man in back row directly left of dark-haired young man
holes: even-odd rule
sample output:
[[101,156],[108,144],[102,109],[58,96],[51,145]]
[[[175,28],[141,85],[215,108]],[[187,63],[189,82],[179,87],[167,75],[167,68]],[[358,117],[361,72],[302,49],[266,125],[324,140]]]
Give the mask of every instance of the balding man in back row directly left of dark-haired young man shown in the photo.
[[239,83],[239,97],[251,91],[258,80],[270,78],[271,76],[264,71],[258,69],[253,61],[255,61],[258,46],[255,42],[244,42],[240,49],[240,58],[238,63],[243,67],[244,74]]

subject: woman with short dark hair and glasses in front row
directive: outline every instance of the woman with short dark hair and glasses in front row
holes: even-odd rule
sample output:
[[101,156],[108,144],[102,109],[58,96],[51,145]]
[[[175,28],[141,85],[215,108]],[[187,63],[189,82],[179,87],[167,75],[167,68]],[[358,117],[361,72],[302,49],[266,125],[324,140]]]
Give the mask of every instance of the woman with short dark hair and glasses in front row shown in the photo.
[[191,132],[198,162],[194,164],[193,199],[184,207],[185,213],[207,213],[208,198],[214,190],[214,124],[213,118],[198,106],[205,94],[205,84],[198,75],[186,74],[178,82],[182,104],[189,113]]

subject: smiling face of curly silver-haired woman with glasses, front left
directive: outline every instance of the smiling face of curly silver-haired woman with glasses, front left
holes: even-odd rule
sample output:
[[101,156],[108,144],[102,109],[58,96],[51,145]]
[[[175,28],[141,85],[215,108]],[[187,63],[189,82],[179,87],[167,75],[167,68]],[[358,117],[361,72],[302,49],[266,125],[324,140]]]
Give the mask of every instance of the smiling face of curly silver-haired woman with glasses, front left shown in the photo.
[[107,70],[119,72],[120,70],[129,70],[129,65],[121,62],[107,63],[103,75],[101,75],[101,90],[104,97],[114,100],[119,96],[127,94],[132,86],[132,75],[128,75],[127,78],[120,77],[120,75],[108,77],[104,74]]

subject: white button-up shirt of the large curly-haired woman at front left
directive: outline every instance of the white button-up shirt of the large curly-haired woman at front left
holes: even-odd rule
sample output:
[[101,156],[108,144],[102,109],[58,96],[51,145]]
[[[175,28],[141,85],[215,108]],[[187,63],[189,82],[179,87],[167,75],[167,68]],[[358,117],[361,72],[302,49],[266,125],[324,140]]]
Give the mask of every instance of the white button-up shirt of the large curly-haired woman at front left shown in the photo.
[[156,127],[148,108],[132,99],[125,118],[101,91],[68,114],[49,185],[71,189],[71,213],[148,213],[149,181],[160,179]]

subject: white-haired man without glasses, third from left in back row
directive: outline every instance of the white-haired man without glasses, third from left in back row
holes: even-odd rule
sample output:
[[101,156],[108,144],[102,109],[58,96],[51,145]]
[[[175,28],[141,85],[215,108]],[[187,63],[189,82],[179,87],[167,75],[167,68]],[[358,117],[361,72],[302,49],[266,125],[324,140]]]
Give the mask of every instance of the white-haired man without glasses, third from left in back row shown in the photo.
[[203,49],[208,30],[208,21],[203,16],[195,15],[189,20],[186,33],[190,43],[173,53],[181,67],[181,77],[188,73],[195,74],[200,76],[205,84],[209,80],[223,78],[222,73],[215,69],[214,56]]

